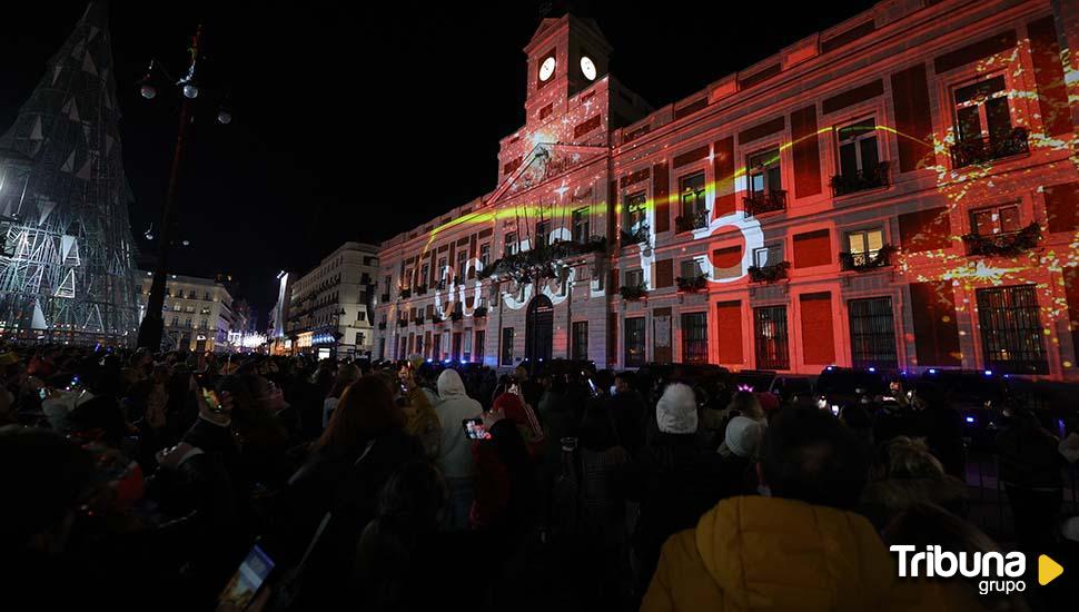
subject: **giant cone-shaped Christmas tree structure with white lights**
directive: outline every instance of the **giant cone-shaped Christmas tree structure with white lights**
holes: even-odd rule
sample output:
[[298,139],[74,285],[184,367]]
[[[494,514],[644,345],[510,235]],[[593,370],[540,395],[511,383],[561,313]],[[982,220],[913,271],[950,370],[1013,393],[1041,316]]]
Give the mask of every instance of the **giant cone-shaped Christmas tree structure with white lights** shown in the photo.
[[127,344],[133,253],[105,2],[91,2],[0,137],[0,329]]

